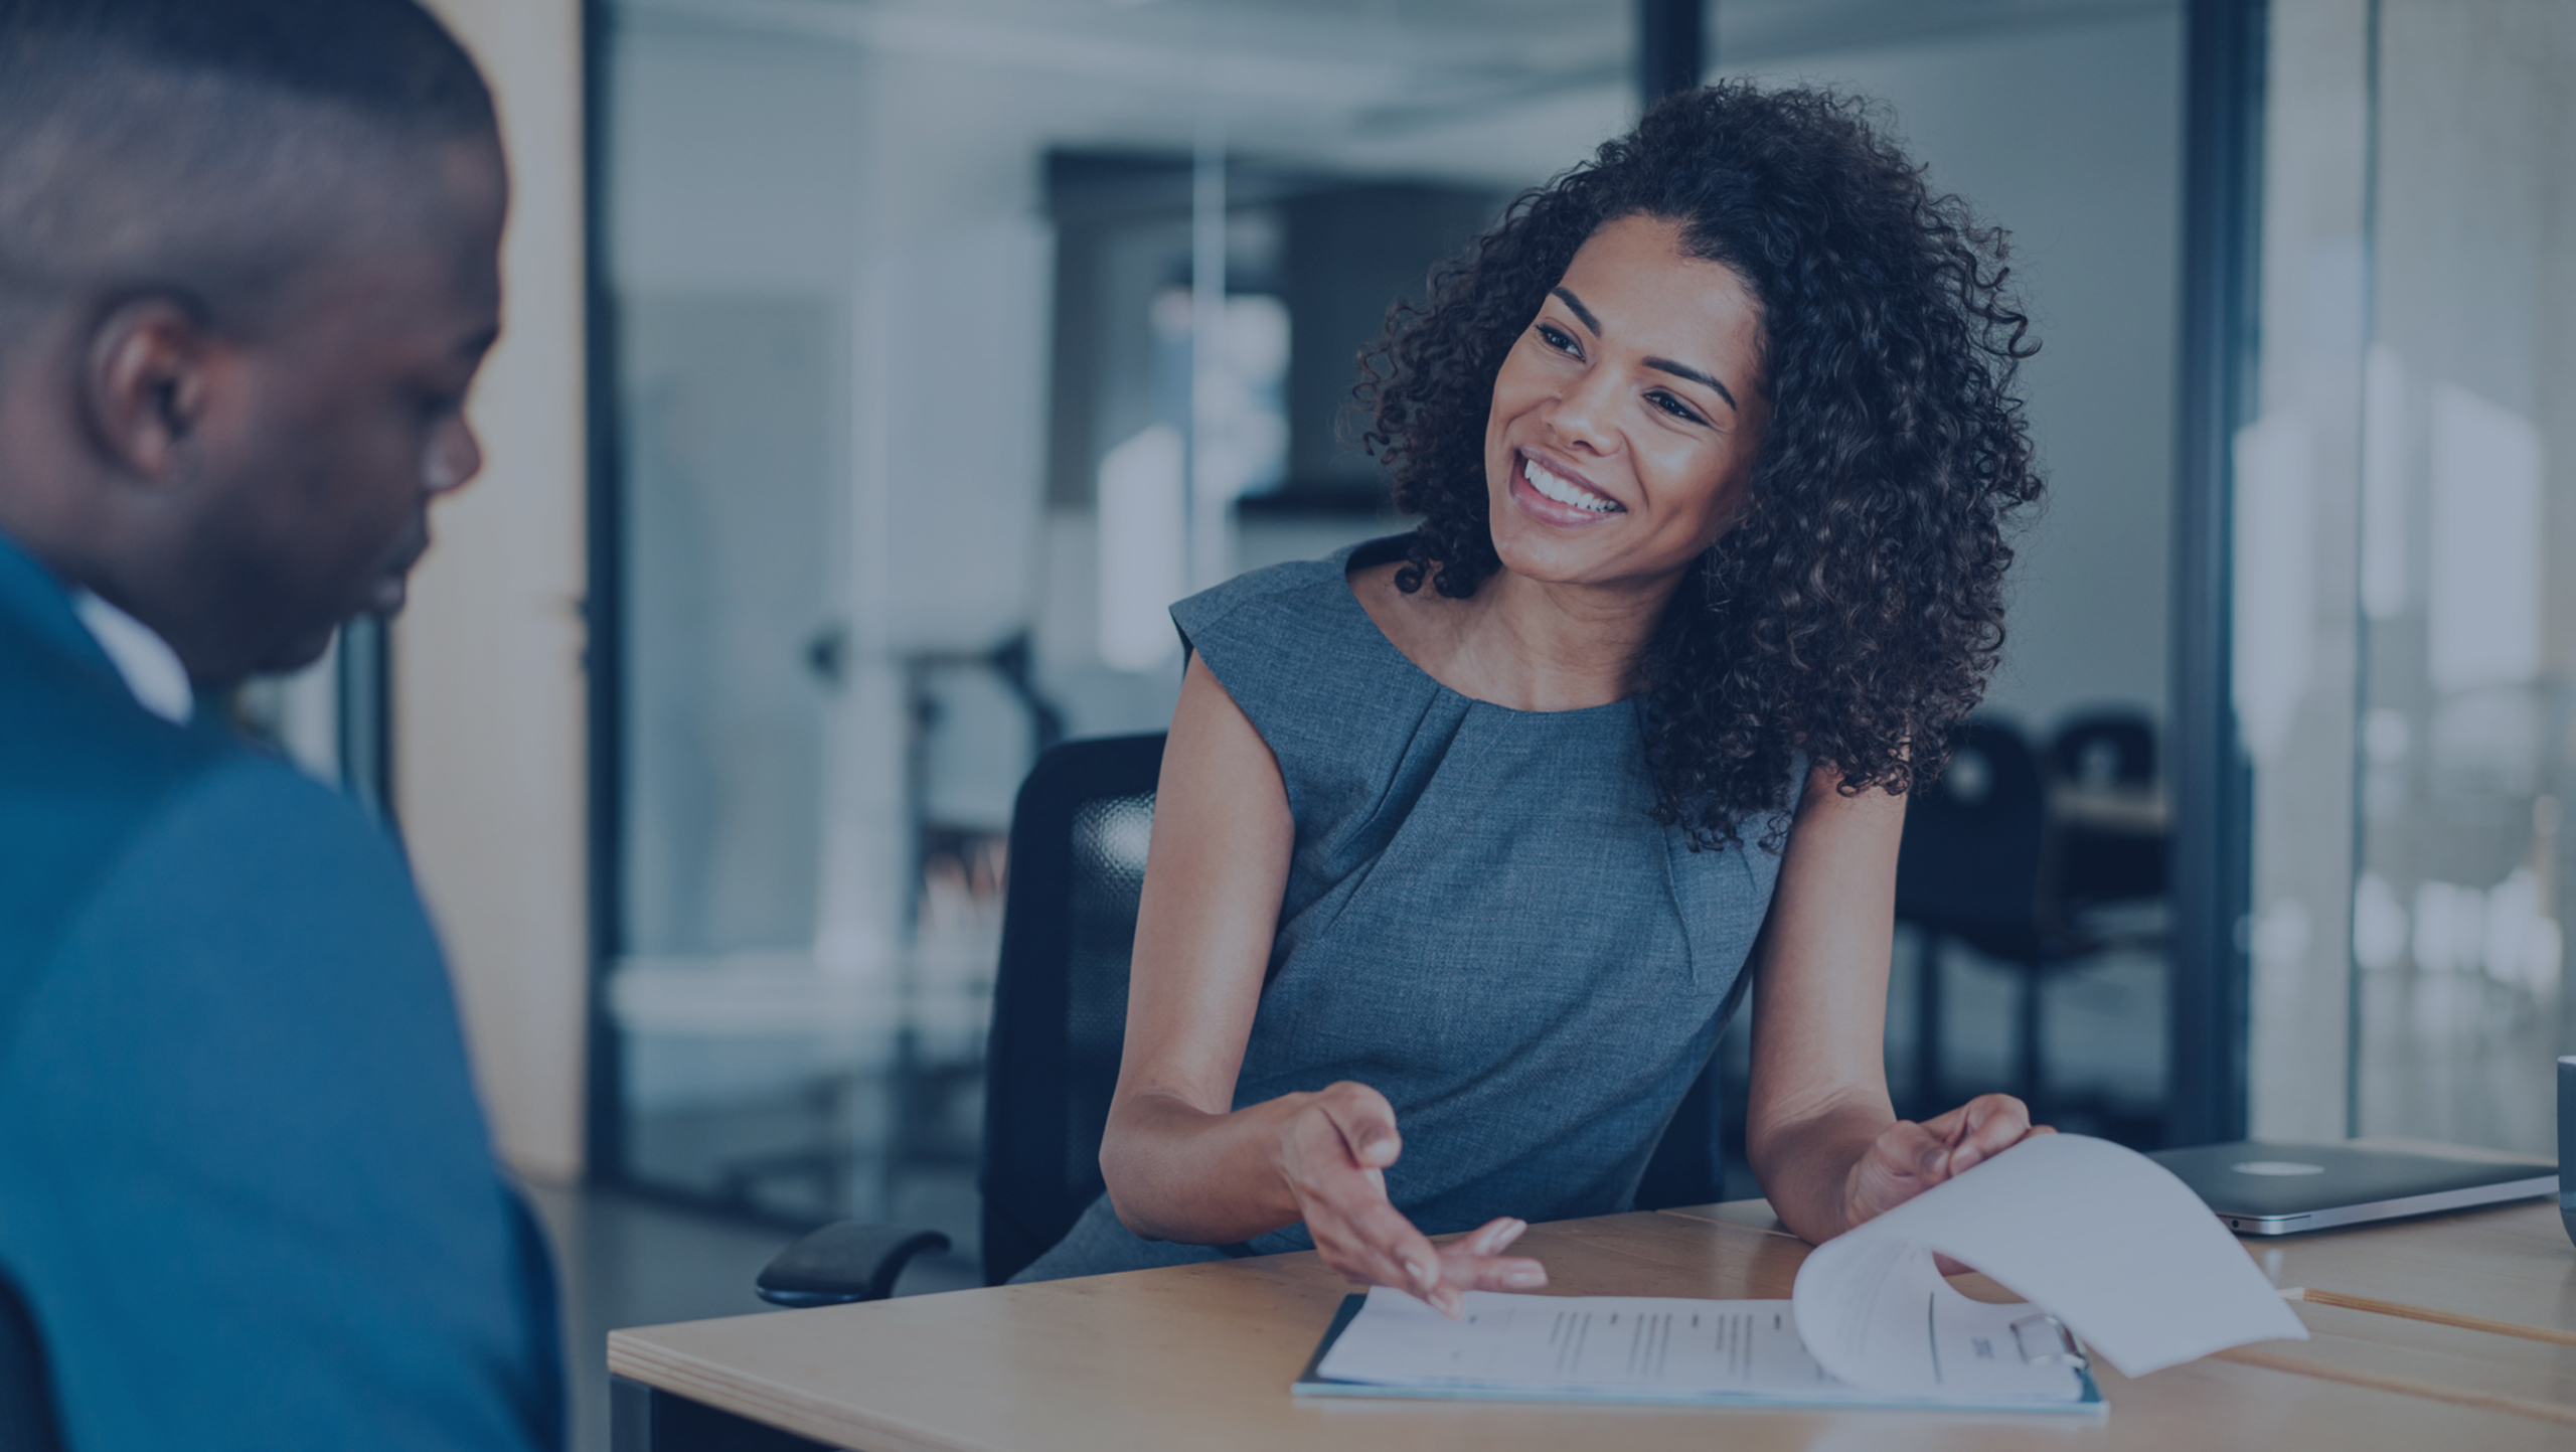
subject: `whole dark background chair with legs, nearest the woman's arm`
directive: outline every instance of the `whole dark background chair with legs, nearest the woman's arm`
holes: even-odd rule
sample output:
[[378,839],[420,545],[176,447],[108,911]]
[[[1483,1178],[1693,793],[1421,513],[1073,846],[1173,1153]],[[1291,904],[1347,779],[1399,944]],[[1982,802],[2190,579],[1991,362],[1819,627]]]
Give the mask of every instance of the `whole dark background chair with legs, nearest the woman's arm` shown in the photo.
[[1942,1102],[1940,947],[1960,942],[2020,971],[2014,1004],[2014,1089],[2038,1104],[2040,973],[2079,955],[2040,911],[2040,842],[2048,790],[2022,734],[1971,721],[1950,770],[1906,803],[1896,850],[1896,919],[1922,932],[1914,999],[1914,1094],[1919,1112]]

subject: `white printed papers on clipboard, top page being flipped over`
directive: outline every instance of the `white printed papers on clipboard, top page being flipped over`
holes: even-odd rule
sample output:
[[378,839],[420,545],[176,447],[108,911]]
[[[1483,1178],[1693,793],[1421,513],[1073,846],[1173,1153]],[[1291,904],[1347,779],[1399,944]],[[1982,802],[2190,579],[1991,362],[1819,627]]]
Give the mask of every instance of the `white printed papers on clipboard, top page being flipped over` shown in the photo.
[[[2025,1303],[1968,1300],[1935,1254]],[[1345,1300],[1296,1390],[2099,1416],[2081,1341],[2146,1375],[2306,1336],[2164,1166],[2045,1135],[1826,1241],[1793,1300],[1468,1292],[1448,1321],[1376,1287]]]

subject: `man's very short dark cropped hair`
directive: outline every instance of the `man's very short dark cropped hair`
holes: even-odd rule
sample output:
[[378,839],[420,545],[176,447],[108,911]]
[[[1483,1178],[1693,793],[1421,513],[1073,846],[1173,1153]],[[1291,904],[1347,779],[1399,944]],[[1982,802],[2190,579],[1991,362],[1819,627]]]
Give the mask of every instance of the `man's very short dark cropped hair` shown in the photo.
[[489,131],[417,0],[0,0],[0,358],[72,296],[247,317],[407,203],[389,157]]

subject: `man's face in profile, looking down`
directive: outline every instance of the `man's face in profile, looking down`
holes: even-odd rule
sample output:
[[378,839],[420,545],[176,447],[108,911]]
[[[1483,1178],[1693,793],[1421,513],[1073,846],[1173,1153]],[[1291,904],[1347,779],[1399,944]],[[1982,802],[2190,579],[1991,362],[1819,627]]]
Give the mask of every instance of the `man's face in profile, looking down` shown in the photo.
[[399,610],[430,499],[482,469],[464,402],[500,330],[500,149],[440,149],[435,185],[404,209],[417,227],[345,247],[214,360],[188,556],[240,672],[312,664],[350,615]]

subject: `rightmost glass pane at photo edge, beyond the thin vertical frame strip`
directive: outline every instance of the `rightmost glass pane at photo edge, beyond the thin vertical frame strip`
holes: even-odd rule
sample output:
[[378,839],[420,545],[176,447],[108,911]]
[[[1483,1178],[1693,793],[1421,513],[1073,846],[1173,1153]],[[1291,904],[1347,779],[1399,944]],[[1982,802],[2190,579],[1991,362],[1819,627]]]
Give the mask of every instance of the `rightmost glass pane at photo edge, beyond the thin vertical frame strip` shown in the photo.
[[2576,744],[2576,10],[2378,5],[2354,1128],[2553,1153]]

